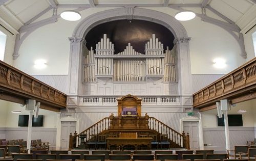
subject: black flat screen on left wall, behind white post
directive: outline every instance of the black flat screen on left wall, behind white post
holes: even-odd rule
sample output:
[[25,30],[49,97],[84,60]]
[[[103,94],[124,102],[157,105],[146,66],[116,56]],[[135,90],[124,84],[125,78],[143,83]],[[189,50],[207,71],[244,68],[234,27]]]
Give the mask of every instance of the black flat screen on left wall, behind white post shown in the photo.
[[[37,118],[33,116],[32,126],[40,127],[43,126],[44,115],[38,115]],[[26,127],[29,125],[29,115],[19,115],[18,116],[18,126]]]

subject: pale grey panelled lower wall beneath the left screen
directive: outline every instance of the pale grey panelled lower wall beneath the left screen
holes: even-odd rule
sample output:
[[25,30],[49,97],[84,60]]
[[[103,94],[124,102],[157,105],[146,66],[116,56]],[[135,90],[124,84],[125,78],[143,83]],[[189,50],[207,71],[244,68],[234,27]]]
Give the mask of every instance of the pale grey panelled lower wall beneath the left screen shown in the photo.
[[[56,128],[32,127],[32,140],[41,139],[49,142],[51,148],[56,146]],[[1,127],[0,138],[6,140],[24,139],[27,140],[27,127]]]

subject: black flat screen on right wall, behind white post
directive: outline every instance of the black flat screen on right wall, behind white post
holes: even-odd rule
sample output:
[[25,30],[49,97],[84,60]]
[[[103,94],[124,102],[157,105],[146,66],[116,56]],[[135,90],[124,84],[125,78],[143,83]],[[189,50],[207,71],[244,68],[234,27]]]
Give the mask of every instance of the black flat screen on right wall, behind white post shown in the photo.
[[[224,116],[222,118],[218,118],[218,126],[224,126]],[[242,115],[227,115],[228,118],[228,126],[243,126],[243,117]]]

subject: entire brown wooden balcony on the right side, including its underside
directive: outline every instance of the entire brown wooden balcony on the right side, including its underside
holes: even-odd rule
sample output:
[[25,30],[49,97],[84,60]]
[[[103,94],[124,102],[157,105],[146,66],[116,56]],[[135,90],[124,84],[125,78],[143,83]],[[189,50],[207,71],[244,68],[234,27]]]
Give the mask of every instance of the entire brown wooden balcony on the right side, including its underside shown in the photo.
[[200,111],[216,108],[216,101],[231,104],[256,98],[256,58],[193,94],[193,106]]

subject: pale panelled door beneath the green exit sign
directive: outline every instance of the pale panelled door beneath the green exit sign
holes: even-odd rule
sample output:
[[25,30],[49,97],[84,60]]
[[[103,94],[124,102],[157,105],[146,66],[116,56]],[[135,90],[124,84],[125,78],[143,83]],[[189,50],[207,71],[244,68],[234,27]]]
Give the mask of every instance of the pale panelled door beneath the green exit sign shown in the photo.
[[200,149],[198,121],[183,121],[183,130],[185,131],[185,133],[189,133],[190,149]]

